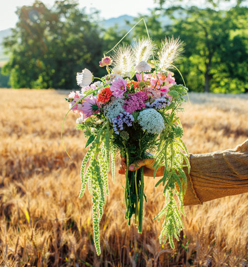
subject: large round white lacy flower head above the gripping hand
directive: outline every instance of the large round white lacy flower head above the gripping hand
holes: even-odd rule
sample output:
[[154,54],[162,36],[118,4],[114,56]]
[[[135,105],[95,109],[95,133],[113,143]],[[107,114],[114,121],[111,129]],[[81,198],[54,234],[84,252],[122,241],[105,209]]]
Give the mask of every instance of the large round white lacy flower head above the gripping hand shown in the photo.
[[153,108],[141,111],[137,120],[142,129],[150,134],[160,134],[165,128],[163,117]]

